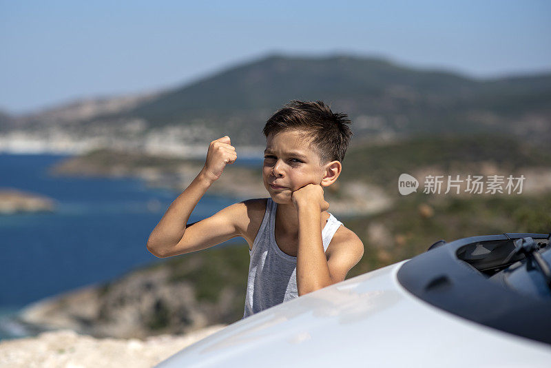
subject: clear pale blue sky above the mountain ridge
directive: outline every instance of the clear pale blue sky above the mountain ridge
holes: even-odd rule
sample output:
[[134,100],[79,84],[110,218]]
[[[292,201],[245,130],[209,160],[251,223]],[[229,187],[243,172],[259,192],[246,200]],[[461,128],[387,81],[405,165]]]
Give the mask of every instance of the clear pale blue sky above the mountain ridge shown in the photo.
[[551,1],[0,0],[0,110],[176,88],[267,54],[551,71]]

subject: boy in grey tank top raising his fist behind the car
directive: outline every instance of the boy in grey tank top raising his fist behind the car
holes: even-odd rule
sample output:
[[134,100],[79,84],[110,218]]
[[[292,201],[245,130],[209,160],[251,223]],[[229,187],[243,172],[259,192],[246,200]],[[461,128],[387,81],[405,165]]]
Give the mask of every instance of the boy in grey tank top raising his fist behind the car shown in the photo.
[[344,280],[362,258],[364,245],[327,212],[323,188],[340,175],[350,123],[322,101],[284,105],[262,131],[267,139],[262,178],[270,197],[235,203],[187,224],[225,165],[237,159],[229,136],[212,141],[205,166],[171,203],[147,249],[165,258],[245,238],[251,260],[243,318]]

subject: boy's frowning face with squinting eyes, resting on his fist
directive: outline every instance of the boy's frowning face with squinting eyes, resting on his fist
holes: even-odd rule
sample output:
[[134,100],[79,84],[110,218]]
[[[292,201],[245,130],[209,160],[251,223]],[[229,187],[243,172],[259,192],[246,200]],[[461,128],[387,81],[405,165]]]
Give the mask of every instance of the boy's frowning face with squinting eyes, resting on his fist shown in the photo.
[[295,190],[310,183],[320,184],[324,174],[325,167],[308,141],[304,141],[304,132],[289,130],[267,137],[262,178],[275,203],[292,204]]

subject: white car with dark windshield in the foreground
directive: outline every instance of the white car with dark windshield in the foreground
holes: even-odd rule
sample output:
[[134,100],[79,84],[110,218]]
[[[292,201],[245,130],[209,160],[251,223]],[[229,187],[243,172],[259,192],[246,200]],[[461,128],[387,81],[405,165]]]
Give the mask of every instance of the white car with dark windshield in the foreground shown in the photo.
[[239,320],[156,367],[551,367],[550,237],[438,241]]

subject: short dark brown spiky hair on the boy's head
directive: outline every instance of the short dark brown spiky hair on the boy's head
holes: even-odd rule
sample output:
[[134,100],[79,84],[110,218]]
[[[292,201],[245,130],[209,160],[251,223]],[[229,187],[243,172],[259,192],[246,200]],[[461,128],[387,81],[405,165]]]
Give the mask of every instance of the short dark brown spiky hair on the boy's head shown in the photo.
[[333,113],[322,101],[293,100],[276,111],[264,125],[266,138],[286,130],[302,130],[308,134],[310,146],[318,152],[322,164],[342,161],[353,135],[352,122],[342,113]]

